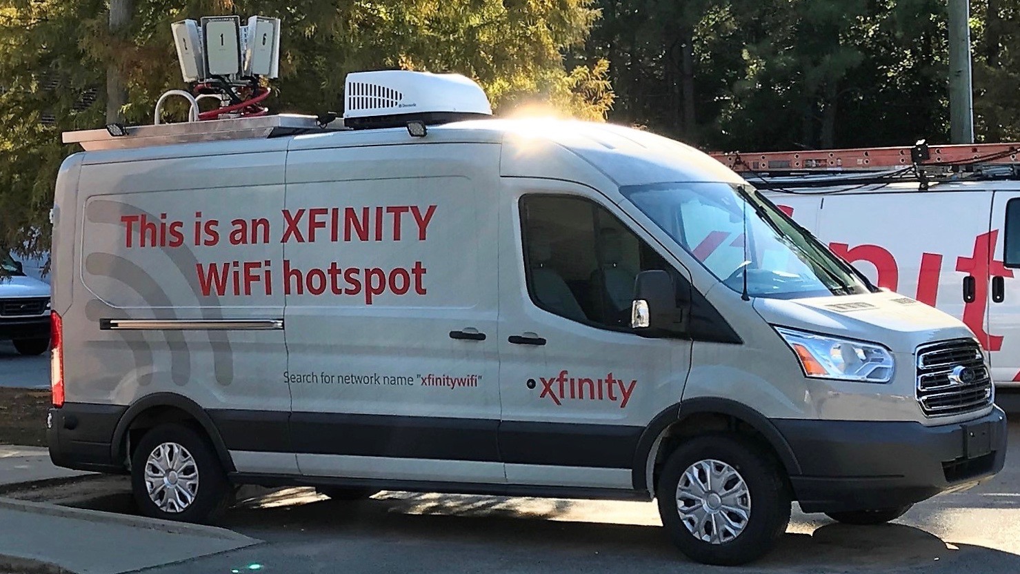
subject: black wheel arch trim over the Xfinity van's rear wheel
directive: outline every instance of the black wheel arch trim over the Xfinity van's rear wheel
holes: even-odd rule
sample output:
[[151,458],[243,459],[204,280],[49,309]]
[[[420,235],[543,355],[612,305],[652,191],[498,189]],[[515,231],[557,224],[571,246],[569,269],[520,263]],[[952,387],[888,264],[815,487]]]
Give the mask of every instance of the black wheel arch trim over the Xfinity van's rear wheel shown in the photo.
[[212,442],[213,449],[224,470],[234,472],[234,460],[223,442],[223,437],[213,423],[212,418],[195,401],[177,395],[175,393],[154,393],[147,395],[136,401],[120,417],[116,427],[113,429],[113,441],[111,443],[111,456],[113,461],[123,461],[128,456],[128,438],[130,431],[135,427],[135,423],[144,420],[146,416],[153,416],[156,422],[164,420],[181,420],[180,416],[174,416],[173,412],[183,413],[185,420],[192,420],[205,432]]

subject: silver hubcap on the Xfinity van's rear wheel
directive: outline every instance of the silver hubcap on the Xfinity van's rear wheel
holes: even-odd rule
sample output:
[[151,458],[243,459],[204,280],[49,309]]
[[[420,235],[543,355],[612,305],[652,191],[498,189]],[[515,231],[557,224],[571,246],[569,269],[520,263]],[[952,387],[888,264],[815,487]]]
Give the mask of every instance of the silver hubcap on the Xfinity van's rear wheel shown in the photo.
[[188,449],[176,442],[153,449],[145,462],[145,487],[159,510],[187,510],[198,494],[198,465]]

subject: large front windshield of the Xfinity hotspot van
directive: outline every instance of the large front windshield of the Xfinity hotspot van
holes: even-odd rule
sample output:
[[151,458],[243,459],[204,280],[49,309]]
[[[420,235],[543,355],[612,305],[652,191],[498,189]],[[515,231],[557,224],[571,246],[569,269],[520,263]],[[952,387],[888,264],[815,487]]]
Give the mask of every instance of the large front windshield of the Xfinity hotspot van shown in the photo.
[[751,297],[869,293],[847,263],[750,186],[652,184],[620,191],[737,293],[745,273]]

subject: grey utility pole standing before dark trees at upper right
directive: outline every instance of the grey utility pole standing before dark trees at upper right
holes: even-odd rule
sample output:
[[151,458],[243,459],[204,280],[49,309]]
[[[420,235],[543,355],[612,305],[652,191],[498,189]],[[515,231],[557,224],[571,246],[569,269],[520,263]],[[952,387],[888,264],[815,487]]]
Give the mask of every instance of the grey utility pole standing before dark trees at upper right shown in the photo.
[[950,138],[974,143],[974,103],[970,72],[970,0],[949,0]]

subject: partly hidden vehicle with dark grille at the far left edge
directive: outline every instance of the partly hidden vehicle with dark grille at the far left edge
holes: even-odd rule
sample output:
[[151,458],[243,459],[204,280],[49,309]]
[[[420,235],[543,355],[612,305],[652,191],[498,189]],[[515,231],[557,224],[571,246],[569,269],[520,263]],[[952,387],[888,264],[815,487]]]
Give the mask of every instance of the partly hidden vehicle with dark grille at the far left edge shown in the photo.
[[0,341],[21,355],[50,347],[50,285],[31,277],[20,261],[0,248]]

